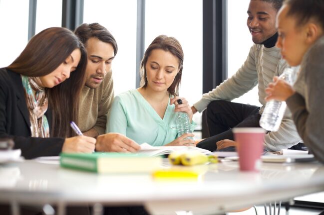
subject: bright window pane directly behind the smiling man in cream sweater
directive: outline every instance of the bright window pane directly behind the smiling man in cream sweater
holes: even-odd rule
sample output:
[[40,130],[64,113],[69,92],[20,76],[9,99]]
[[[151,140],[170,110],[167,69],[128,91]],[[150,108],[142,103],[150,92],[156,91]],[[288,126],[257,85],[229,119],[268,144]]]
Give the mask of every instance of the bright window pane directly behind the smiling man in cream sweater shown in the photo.
[[[253,45],[247,26],[250,0],[229,0],[228,2],[228,77],[243,65]],[[233,102],[261,106],[258,87]]]

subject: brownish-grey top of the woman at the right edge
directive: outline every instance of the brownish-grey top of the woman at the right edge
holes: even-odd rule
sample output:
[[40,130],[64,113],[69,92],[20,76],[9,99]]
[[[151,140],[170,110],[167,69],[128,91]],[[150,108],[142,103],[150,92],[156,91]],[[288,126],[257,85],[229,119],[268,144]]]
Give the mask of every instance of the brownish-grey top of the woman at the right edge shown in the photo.
[[303,58],[296,93],[287,99],[298,133],[324,163],[324,36]]

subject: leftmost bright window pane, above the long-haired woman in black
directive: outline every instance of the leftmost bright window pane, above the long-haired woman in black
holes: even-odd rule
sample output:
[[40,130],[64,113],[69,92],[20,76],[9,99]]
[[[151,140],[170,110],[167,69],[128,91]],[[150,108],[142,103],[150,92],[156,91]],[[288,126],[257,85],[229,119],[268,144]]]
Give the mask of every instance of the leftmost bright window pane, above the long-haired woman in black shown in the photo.
[[0,68],[11,64],[27,44],[28,8],[27,0],[0,0]]

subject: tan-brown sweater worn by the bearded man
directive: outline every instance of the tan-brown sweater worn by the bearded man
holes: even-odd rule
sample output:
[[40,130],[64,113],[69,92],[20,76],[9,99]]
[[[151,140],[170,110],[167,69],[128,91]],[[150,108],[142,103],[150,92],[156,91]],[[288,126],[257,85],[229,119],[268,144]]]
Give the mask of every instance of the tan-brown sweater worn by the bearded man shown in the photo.
[[99,135],[105,133],[107,113],[114,98],[111,74],[106,74],[98,88],[83,87],[78,122],[82,132],[94,128]]

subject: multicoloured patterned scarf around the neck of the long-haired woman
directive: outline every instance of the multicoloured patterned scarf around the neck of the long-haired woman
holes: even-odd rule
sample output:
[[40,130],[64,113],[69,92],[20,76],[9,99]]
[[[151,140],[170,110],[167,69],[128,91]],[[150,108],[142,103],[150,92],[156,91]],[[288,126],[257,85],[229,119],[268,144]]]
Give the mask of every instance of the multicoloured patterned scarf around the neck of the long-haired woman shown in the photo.
[[[37,85],[37,81],[38,83],[40,81],[37,77],[26,77],[21,75],[21,80],[29,111],[31,136],[49,137],[48,121],[44,115],[48,105],[44,88]],[[33,91],[36,92],[36,99]]]

